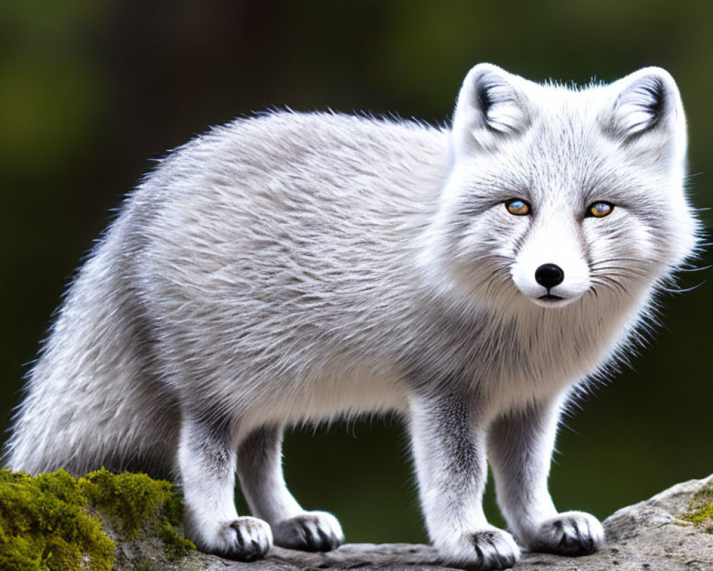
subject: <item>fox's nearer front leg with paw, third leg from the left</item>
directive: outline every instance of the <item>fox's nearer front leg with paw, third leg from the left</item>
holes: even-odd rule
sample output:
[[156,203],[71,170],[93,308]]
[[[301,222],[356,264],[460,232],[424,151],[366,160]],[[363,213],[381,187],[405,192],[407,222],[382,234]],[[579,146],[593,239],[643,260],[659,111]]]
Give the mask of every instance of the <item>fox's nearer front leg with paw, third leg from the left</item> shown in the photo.
[[412,398],[409,405],[421,505],[434,545],[453,565],[512,567],[518,545],[483,514],[486,439],[472,399],[429,395]]

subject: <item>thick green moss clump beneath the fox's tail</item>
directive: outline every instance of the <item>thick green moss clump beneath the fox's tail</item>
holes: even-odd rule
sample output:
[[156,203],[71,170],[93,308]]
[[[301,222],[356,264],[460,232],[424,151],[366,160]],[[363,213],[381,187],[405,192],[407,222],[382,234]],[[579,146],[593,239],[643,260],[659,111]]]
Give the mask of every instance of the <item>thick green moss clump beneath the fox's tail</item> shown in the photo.
[[0,470],[0,569],[109,571],[116,545],[103,520],[122,540],[158,537],[175,560],[195,548],[178,530],[182,513],[173,485],[143,474]]

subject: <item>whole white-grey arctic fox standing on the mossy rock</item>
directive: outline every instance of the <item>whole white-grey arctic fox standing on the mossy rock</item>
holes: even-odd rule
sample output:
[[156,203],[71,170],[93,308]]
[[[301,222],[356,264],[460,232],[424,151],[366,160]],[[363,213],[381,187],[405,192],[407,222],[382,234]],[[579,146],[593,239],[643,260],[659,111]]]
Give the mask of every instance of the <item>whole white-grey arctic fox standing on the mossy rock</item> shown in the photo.
[[[452,128],[292,112],[214,128],[79,271],[9,465],[175,477],[188,536],[225,557],[332,550],[337,519],[283,480],[284,427],[396,410],[446,562],[592,552],[600,522],[548,493],[558,418],[696,248],[685,153],[658,68],[575,89],[480,64]],[[510,532],[483,515],[486,458]]]

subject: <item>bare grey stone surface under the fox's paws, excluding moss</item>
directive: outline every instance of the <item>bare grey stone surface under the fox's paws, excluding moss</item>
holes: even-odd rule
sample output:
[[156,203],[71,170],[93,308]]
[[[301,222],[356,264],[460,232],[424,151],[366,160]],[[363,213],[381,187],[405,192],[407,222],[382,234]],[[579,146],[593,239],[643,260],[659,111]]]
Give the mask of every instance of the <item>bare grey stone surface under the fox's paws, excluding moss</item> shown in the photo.
[[[713,571],[713,522],[696,525],[679,519],[699,504],[713,501],[713,475],[691,480],[615,512],[604,522],[605,547],[587,557],[525,553],[518,571]],[[699,506],[696,506],[699,507]],[[160,559],[160,556],[158,557]],[[158,563],[158,560],[156,561]],[[168,565],[168,564],[166,564]],[[133,567],[124,567],[126,570]],[[160,569],[180,571],[443,571],[428,545],[349,544],[329,553],[305,553],[275,547],[265,560],[239,563],[195,553]]]

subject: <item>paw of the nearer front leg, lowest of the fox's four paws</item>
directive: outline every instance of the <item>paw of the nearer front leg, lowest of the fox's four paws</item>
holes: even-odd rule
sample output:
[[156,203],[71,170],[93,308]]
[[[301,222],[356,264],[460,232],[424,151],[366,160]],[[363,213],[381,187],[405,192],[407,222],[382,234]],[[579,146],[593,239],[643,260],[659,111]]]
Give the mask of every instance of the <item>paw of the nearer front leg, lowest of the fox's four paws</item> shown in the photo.
[[473,571],[508,569],[520,558],[513,536],[497,527],[468,533],[441,552],[446,562]]

